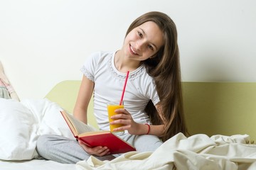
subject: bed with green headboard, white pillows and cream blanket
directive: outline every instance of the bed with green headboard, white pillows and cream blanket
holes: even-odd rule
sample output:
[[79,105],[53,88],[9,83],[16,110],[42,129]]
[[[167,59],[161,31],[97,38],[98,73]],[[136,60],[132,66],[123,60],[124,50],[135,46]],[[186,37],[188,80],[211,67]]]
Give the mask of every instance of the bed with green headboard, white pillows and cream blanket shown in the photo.
[[[80,81],[67,80],[46,98],[0,98],[1,169],[256,169],[256,83],[183,82],[191,137],[179,133],[156,152],[128,152],[111,162],[95,157],[78,164],[41,159],[35,151],[39,135],[73,138],[59,111],[72,113],[79,86]],[[89,123],[97,128],[92,114]]]

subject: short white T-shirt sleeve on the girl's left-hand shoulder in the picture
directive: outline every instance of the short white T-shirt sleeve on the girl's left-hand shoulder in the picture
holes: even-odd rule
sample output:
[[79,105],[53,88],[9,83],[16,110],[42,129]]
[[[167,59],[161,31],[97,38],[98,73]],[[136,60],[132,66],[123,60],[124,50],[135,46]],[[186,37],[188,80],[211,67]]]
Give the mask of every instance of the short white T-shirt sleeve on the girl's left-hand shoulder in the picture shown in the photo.
[[91,81],[95,81],[95,70],[97,69],[97,59],[100,57],[100,52],[94,52],[89,57],[87,57],[87,60],[82,65],[82,68],[80,71],[82,74],[87,77],[87,79],[90,79]]

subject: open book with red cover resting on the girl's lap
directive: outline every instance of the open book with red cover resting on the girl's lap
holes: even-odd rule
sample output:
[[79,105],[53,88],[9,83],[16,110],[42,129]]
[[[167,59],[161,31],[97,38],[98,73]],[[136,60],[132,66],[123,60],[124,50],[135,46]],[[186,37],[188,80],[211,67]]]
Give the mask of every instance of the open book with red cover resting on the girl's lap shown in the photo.
[[89,147],[107,147],[110,149],[110,154],[121,154],[136,151],[132,145],[122,140],[117,135],[114,135],[114,133],[103,130],[97,131],[95,128],[77,120],[70,113],[66,113],[65,111],[60,111],[60,113],[63,115],[66,123],[68,123],[74,137],[84,142],[85,145]]

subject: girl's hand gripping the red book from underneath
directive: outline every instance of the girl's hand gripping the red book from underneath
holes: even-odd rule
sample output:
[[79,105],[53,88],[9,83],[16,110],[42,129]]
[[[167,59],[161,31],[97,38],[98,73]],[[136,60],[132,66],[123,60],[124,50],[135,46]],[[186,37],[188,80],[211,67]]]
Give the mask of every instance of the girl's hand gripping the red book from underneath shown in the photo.
[[79,145],[82,147],[82,149],[85,149],[85,152],[87,152],[90,155],[96,155],[99,157],[102,157],[104,155],[110,154],[110,149],[107,147],[88,147],[85,145],[82,141],[78,140]]

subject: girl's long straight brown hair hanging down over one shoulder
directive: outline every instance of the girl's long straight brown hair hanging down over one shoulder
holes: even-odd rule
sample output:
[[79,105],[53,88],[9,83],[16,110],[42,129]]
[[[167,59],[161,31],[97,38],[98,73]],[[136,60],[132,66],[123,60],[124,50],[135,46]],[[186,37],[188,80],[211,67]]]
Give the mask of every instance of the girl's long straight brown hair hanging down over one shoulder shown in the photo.
[[[147,21],[153,21],[164,34],[164,45],[153,57],[144,61],[146,70],[156,82],[162,117],[164,118],[163,141],[178,132],[187,135],[188,131],[183,115],[183,98],[181,92],[181,69],[177,42],[177,30],[174,21],[165,13],[152,11],[139,16],[128,28],[127,34]],[[126,35],[127,35],[126,34]],[[153,125],[162,124],[152,101],[145,108]]]

